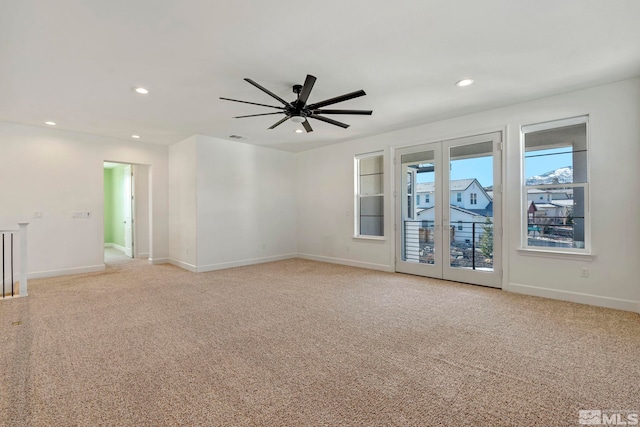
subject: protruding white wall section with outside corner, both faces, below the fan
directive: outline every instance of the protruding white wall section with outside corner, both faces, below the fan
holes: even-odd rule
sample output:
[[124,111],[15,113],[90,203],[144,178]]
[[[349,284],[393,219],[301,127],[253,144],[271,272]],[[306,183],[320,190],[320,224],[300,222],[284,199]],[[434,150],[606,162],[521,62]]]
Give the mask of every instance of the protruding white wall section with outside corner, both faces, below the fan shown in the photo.
[[169,157],[172,263],[199,272],[296,256],[295,154],[198,135]]

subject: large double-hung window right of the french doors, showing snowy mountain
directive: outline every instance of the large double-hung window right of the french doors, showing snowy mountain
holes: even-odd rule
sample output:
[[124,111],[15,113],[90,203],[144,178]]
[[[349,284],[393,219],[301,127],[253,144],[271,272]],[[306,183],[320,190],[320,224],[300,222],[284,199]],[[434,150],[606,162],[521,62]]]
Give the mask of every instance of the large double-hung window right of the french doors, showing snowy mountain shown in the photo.
[[524,248],[589,252],[587,123],[583,116],[522,127]]

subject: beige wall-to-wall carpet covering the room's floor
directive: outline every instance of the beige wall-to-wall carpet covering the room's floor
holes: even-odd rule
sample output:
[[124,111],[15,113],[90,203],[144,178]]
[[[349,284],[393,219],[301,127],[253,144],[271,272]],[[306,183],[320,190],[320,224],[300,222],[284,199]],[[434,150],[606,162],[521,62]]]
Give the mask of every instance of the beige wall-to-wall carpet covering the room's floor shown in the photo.
[[640,316],[305,260],[0,302],[0,424],[562,426],[640,411]]

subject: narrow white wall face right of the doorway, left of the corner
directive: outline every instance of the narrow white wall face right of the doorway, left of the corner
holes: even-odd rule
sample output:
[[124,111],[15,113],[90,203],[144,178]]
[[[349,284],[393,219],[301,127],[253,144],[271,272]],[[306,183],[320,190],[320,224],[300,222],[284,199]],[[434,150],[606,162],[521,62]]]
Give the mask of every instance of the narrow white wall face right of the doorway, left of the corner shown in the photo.
[[169,147],[169,258],[190,271],[197,264],[196,137]]

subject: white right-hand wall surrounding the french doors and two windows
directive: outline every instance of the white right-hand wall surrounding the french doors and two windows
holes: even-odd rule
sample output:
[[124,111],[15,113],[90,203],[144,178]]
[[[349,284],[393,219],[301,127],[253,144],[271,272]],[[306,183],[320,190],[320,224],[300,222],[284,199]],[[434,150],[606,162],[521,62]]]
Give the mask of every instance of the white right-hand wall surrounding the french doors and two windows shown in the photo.
[[[520,126],[590,115],[592,261],[525,255],[521,247]],[[305,258],[394,269],[390,147],[504,130],[503,287],[577,302],[639,309],[640,79],[567,93],[298,154],[298,248]],[[386,240],[353,236],[353,156],[385,150]],[[313,189],[309,191],[309,189]],[[616,226],[619,225],[619,226]],[[624,224],[624,226],[622,226]],[[632,236],[630,238],[630,236]],[[581,268],[589,277],[581,278]]]

